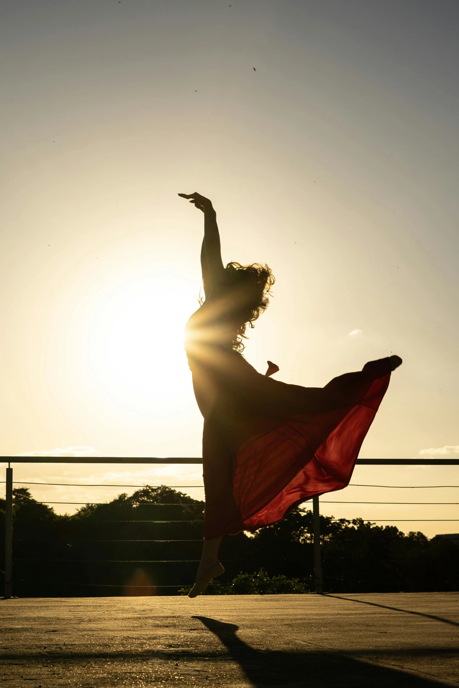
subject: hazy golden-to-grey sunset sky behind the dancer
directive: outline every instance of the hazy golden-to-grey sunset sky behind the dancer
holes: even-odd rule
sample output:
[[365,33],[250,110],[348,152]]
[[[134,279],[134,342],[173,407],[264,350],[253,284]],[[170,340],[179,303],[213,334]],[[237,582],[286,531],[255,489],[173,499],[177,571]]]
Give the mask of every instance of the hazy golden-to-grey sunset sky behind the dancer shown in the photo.
[[[202,215],[177,196],[199,191],[224,261],[277,279],[248,361],[321,386],[399,354],[361,456],[458,456],[458,20],[453,0],[4,3],[1,455],[200,455],[182,330]],[[201,481],[125,469],[17,464],[14,478]],[[459,484],[456,467],[358,477]],[[32,493],[51,489],[75,496]],[[414,492],[458,494],[381,500]],[[389,514],[375,508],[329,513]],[[404,517],[427,508],[458,513]]]

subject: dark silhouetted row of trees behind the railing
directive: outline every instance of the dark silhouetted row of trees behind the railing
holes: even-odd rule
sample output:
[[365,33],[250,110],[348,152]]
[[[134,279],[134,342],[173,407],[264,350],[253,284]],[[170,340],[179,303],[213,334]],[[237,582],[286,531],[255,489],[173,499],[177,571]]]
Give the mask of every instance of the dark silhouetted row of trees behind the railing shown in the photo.
[[[0,513],[3,538],[4,499]],[[58,515],[27,488],[15,488],[13,594],[184,594],[203,530],[204,502],[165,486],[86,504],[73,515]],[[296,508],[254,535],[224,537],[225,572],[206,592],[312,592],[312,532],[312,511]],[[459,547],[447,539],[329,516],[321,516],[321,535],[325,592],[459,590]]]

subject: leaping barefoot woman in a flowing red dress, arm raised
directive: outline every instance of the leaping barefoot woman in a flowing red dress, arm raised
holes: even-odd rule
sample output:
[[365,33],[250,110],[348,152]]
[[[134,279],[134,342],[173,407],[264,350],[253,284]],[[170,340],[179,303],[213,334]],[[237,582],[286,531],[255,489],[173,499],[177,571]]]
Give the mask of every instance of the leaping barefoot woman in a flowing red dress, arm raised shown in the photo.
[[217,217],[199,193],[179,193],[204,213],[204,302],[185,328],[193,389],[204,417],[204,548],[189,593],[224,572],[222,536],[282,519],[306,499],[349,484],[359,449],[398,356],[370,361],[325,387],[286,385],[259,374],[242,355],[246,327],[266,310],[268,266],[222,263]]

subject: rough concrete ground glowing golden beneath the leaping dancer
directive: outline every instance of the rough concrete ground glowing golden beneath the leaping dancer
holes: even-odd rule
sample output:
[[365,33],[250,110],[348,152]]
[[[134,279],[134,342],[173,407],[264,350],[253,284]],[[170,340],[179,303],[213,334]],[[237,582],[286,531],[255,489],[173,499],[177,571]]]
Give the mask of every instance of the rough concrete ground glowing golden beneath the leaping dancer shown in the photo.
[[1,685],[459,685],[459,593],[0,601]]

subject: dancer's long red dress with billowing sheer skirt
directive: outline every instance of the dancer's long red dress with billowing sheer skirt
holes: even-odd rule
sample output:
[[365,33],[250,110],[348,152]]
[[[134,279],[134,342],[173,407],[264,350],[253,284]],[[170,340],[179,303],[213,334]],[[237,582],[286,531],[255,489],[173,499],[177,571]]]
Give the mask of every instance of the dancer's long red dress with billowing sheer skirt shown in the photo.
[[227,328],[218,303],[191,316],[185,339],[204,416],[205,539],[269,526],[348,485],[391,372],[382,358],[325,387],[279,382],[220,343]]

